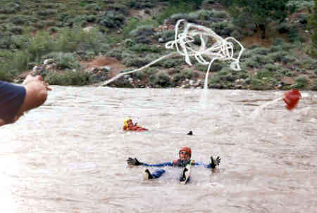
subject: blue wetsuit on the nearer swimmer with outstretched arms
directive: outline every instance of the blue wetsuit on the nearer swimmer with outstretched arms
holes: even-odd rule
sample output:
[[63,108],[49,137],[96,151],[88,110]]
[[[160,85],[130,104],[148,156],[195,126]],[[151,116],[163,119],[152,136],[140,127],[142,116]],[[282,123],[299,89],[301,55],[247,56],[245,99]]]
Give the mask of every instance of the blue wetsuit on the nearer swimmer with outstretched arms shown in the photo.
[[[147,164],[144,162],[140,162],[141,165],[145,167],[185,167],[188,162],[181,162],[179,159],[174,160],[173,162],[163,162],[161,164]],[[204,164],[203,162],[194,162],[192,160],[192,166],[203,166],[206,168],[211,168],[211,164]],[[162,174],[165,172],[164,169],[156,169],[153,173],[152,176],[154,179],[158,179]]]

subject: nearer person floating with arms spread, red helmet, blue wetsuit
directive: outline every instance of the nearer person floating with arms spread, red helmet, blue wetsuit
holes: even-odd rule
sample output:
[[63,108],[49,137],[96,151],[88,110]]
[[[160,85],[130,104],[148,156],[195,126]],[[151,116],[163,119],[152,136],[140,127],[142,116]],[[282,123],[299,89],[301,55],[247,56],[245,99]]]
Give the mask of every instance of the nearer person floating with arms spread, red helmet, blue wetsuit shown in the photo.
[[[189,181],[189,174],[187,173],[188,168],[187,165],[190,164],[192,166],[204,166],[206,168],[215,169],[216,166],[220,164],[220,157],[216,157],[216,160],[213,159],[213,156],[210,157],[211,163],[204,164],[202,162],[194,162],[194,160],[191,160],[192,157],[192,150],[191,148],[185,146],[180,148],[178,151],[179,158],[177,160],[173,160],[173,162],[163,162],[161,164],[147,164],[144,162],[139,162],[137,158],[128,157],[127,163],[130,165],[135,166],[145,166],[145,167],[185,167],[182,171],[182,175],[180,176],[180,181]],[[155,172],[151,173],[149,169],[144,170],[144,179],[158,179],[162,174],[165,172],[164,169],[156,169]]]

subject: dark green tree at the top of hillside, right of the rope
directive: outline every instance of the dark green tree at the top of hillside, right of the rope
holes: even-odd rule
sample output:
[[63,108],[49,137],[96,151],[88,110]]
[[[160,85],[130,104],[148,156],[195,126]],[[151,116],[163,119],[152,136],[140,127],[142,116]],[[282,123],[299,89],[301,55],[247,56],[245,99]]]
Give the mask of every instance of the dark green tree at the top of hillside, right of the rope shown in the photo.
[[294,8],[287,8],[288,0],[234,0],[230,14],[234,22],[241,27],[254,24],[259,27],[262,38],[271,21],[282,22]]

